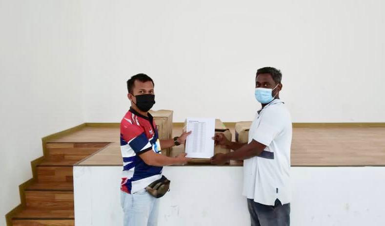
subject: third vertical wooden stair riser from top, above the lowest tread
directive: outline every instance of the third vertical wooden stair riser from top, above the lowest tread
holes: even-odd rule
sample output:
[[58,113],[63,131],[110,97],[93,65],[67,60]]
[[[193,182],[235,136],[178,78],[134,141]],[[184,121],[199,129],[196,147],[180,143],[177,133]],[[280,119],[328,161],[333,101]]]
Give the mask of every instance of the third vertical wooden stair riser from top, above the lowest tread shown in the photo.
[[27,208],[65,209],[74,207],[73,191],[25,191]]

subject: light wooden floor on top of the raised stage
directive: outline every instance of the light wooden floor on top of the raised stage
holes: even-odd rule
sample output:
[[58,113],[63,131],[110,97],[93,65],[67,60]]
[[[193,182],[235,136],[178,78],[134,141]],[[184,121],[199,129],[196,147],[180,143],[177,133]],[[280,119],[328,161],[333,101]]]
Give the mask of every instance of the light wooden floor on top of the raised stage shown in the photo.
[[[233,133],[234,127],[229,127]],[[181,127],[174,127],[173,136]],[[78,165],[122,165],[119,128],[84,128],[51,142],[112,142]],[[175,156],[182,145],[172,150]],[[232,162],[238,165],[237,162]],[[385,166],[385,127],[301,126],[293,128],[291,165]]]

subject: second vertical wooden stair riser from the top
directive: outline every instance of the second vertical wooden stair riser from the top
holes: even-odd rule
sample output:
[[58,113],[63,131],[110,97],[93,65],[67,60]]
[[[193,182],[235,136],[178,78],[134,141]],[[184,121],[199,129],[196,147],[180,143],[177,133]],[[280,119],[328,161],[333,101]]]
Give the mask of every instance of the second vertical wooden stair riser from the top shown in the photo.
[[72,166],[38,166],[39,182],[68,182],[73,183]]

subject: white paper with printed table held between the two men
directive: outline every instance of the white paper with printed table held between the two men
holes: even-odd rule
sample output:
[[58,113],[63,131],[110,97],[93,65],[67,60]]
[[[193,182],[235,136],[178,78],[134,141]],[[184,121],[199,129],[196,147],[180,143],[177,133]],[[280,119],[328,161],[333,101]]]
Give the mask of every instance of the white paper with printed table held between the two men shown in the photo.
[[186,148],[188,158],[211,158],[214,155],[215,118],[187,118]]

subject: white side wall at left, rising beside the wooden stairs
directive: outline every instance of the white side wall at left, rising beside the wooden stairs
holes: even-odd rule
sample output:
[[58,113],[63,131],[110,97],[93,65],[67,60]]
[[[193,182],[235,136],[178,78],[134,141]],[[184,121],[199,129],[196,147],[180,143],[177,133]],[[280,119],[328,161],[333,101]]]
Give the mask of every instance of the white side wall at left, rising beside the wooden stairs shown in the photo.
[[0,226],[41,137],[84,122],[78,0],[0,0]]

